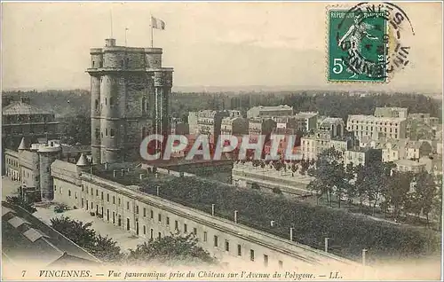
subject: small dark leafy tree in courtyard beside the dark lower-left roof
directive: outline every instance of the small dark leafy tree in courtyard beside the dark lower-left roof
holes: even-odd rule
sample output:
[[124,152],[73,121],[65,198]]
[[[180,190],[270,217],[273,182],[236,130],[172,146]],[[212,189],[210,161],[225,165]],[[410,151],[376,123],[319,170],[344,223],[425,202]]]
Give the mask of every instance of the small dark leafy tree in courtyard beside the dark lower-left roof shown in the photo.
[[91,249],[94,247],[96,232],[91,229],[92,223],[83,223],[66,216],[51,219],[52,228],[65,235],[80,247]]

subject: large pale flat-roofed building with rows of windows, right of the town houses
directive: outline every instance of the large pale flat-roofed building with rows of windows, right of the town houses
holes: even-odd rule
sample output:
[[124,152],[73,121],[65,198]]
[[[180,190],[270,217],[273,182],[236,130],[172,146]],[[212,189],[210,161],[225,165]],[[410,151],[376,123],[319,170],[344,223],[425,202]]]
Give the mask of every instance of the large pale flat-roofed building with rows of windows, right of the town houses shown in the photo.
[[364,137],[401,139],[406,137],[406,119],[351,114],[348,116],[347,129],[353,131],[358,139]]

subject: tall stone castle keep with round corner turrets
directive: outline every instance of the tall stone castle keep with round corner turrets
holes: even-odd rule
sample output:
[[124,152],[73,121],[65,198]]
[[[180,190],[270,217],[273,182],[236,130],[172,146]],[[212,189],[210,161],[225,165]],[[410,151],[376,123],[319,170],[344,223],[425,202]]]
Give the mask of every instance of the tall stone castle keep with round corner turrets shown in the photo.
[[92,48],[92,163],[139,159],[148,134],[170,132],[171,67],[162,67],[162,48],[116,46]]

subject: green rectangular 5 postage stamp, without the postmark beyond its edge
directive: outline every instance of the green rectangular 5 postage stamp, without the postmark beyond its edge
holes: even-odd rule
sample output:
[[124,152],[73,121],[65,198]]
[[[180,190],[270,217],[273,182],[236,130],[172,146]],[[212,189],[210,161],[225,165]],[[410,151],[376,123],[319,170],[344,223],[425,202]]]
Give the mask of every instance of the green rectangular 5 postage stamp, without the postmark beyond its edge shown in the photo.
[[329,82],[385,82],[384,12],[329,10]]

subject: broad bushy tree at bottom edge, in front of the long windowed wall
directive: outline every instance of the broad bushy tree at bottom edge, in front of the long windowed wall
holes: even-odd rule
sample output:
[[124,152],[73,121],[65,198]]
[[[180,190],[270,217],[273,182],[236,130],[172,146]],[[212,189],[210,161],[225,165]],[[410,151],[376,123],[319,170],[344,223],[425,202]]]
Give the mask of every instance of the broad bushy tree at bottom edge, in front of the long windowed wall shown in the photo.
[[138,245],[130,249],[128,261],[132,263],[147,263],[153,260],[160,262],[206,262],[216,263],[216,258],[202,247],[198,247],[198,239],[193,233],[181,236],[171,234]]

